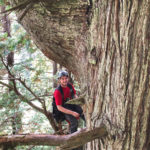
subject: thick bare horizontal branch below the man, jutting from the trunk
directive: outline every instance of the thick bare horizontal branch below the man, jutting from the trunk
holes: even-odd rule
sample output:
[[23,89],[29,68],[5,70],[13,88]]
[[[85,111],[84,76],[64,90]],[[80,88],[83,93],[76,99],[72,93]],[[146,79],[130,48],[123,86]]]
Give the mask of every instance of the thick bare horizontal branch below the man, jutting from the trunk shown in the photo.
[[60,146],[61,149],[69,150],[106,135],[106,128],[101,125],[101,127],[92,130],[83,129],[69,135],[28,134],[0,136],[0,145],[48,145]]

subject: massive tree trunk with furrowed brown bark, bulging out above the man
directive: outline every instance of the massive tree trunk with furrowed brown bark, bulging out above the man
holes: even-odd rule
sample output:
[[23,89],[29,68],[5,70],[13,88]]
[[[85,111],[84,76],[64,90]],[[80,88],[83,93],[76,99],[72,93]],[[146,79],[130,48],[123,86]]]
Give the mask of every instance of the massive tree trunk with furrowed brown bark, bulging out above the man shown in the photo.
[[21,24],[86,91],[87,127],[103,122],[110,133],[86,148],[150,149],[150,0],[43,0],[32,6],[24,17],[29,7],[17,12]]

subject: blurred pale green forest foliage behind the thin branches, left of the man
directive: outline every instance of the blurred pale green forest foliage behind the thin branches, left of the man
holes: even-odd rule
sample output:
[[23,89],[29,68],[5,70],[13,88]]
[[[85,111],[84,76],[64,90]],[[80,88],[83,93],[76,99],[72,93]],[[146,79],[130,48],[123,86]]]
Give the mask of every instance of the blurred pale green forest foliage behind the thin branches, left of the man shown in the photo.
[[[8,37],[6,33],[0,34],[0,55],[3,56],[6,65],[10,52],[15,54],[14,65],[9,67],[15,78],[24,80],[37,96],[51,94],[52,76],[50,79],[49,71],[52,69],[51,63],[33,44],[25,30],[14,21],[11,25],[11,37]],[[13,85],[8,80],[2,61],[0,61],[0,70],[4,70],[0,72],[0,80]],[[0,135],[12,134],[13,128],[16,128],[19,133],[51,133],[52,129],[46,117],[25,103],[35,97],[18,80],[16,80],[16,87],[26,97],[24,101],[21,101],[14,91],[0,84]],[[43,97],[43,99],[46,107],[50,108],[50,97]],[[41,107],[37,99],[34,99],[32,103]],[[15,126],[12,125],[13,122],[16,123]]]

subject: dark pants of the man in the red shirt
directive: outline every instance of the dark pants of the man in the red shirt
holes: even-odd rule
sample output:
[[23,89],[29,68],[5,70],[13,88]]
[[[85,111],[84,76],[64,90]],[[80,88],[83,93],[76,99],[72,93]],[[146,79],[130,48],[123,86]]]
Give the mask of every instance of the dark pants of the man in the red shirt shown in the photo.
[[[82,108],[80,106],[74,105],[74,104],[65,104],[64,108],[79,113],[80,117],[85,121],[83,110],[82,110]],[[68,114],[65,114],[65,119],[67,121],[69,121],[69,123],[70,123],[70,129],[69,129],[70,131],[69,132],[70,133],[76,132],[77,129],[78,129],[78,119],[75,118],[74,116],[68,115]],[[83,149],[83,147],[81,146],[81,147],[78,147],[78,148],[75,148],[75,149],[72,149],[72,150],[82,150],[82,149]]]

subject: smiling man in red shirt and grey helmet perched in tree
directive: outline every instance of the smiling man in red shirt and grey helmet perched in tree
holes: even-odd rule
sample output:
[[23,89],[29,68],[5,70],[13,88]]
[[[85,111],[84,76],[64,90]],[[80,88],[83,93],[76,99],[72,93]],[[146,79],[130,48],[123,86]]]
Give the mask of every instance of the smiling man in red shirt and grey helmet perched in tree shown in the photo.
[[78,119],[83,120],[83,110],[75,104],[66,104],[72,98],[77,98],[76,91],[69,83],[69,75],[67,71],[60,71],[58,74],[60,85],[54,92],[53,99],[53,115],[57,122],[67,120],[70,123],[70,133],[74,133],[78,128]]

